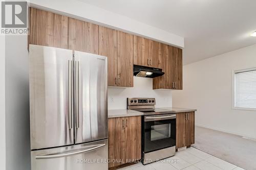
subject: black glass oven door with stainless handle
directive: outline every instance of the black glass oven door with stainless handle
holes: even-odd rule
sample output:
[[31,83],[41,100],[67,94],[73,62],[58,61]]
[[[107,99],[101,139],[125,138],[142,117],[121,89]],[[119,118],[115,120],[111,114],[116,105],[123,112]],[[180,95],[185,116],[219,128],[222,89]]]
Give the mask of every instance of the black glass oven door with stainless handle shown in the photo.
[[144,116],[144,153],[176,145],[176,114]]

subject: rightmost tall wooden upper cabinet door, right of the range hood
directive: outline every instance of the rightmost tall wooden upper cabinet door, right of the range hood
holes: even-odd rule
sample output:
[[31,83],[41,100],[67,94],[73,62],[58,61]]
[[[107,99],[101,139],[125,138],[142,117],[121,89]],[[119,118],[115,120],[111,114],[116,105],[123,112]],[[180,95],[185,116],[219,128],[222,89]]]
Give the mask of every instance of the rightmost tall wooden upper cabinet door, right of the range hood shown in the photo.
[[182,50],[173,48],[173,82],[174,89],[182,90]]

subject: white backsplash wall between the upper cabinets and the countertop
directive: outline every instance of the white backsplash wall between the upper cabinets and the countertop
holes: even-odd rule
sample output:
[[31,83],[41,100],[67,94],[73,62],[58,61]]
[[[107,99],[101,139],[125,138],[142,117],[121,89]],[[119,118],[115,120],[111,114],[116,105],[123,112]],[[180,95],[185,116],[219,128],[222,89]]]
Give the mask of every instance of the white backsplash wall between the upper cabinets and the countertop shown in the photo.
[[172,90],[153,90],[151,78],[134,77],[130,88],[109,87],[109,109],[126,109],[127,98],[156,98],[156,107],[172,107]]

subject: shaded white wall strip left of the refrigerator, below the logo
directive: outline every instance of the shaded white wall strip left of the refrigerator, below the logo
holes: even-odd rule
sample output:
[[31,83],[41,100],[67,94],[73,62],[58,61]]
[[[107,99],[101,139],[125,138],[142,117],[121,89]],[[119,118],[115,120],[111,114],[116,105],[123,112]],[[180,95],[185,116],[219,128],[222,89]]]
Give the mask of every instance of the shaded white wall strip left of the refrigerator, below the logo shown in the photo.
[[6,169],[28,170],[30,125],[27,36],[6,36],[5,47]]

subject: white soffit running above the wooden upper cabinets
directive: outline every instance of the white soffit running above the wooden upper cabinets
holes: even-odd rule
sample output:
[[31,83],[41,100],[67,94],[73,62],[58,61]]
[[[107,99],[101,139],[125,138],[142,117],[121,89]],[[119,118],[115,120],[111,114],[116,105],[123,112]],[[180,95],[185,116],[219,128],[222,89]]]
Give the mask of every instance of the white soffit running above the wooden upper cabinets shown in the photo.
[[90,21],[127,33],[133,33],[167,44],[184,47],[184,38],[170,32],[146,25],[129,17],[76,0],[29,0],[31,7],[46,9],[77,19]]

